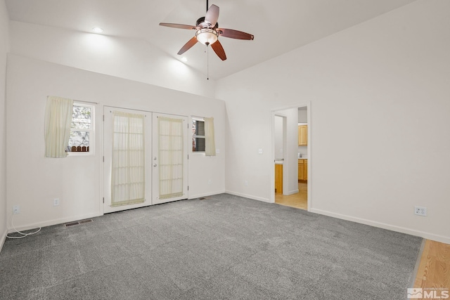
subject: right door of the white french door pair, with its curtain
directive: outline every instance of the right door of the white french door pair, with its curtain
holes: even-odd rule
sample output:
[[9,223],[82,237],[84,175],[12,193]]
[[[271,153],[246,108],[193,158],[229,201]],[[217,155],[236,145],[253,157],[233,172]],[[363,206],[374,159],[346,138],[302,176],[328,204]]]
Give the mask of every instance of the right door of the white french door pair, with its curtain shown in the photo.
[[153,113],[152,204],[188,198],[188,117]]

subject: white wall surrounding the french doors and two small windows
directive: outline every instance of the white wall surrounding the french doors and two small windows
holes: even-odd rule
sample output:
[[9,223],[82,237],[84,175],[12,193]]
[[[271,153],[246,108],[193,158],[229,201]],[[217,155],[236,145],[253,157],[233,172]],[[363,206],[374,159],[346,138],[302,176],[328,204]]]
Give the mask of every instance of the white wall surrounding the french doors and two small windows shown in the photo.
[[[16,55],[8,56],[7,77],[7,209],[20,205],[20,214],[14,215],[16,227],[34,228],[102,214],[103,105],[214,117],[221,153],[216,157],[191,155],[189,197],[224,193],[223,101]],[[44,111],[49,95],[99,103],[94,156],[44,158]],[[55,197],[61,200],[58,207],[53,207]]]

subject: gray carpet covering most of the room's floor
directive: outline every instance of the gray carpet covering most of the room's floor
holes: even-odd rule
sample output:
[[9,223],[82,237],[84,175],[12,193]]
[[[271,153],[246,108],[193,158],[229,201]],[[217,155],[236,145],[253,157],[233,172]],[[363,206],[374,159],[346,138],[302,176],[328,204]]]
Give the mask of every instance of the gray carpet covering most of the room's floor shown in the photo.
[[405,299],[420,237],[221,194],[6,240],[0,299]]

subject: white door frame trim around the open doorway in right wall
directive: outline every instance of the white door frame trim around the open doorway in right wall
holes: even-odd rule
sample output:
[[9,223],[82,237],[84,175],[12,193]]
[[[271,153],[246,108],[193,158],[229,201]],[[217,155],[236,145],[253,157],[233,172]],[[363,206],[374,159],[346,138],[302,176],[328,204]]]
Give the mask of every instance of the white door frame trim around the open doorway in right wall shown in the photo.
[[[313,120],[311,119],[311,101],[306,101],[304,103],[299,103],[296,105],[286,105],[283,107],[275,107],[273,109],[271,109],[270,112],[270,124],[271,124],[271,130],[270,130],[270,136],[271,136],[271,155],[270,155],[270,159],[268,159],[267,164],[270,163],[270,184],[269,184],[269,202],[270,203],[275,203],[275,164],[274,164],[274,160],[275,160],[275,155],[276,153],[274,152],[275,149],[275,115],[277,115],[277,112],[281,111],[281,110],[288,110],[290,108],[300,108],[300,107],[307,107],[307,124],[308,124],[308,145],[307,145],[307,150],[308,150],[308,201],[307,201],[307,207],[308,207],[308,211],[311,210],[311,204],[313,203],[314,199],[313,199],[313,190],[312,190],[312,165],[313,165],[313,152],[312,152],[312,147],[311,147],[311,127],[313,126]],[[281,115],[278,113],[278,115]],[[285,147],[285,146],[283,146]],[[283,149],[284,154],[286,150]],[[284,173],[285,173],[285,168],[283,167],[283,190],[284,190]]]

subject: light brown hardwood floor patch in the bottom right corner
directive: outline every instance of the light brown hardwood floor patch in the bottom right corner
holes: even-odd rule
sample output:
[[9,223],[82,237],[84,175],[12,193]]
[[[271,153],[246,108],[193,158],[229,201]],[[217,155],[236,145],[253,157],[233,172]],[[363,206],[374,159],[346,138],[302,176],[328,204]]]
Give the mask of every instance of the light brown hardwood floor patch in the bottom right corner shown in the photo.
[[437,296],[446,291],[450,296],[450,244],[425,240],[414,287]]

